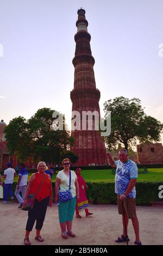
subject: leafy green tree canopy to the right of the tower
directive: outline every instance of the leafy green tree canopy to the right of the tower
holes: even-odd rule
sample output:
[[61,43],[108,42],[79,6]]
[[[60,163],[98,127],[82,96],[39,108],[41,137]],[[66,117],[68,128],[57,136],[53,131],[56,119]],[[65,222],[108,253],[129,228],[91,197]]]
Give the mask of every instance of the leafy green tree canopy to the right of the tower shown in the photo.
[[160,141],[160,133],[163,125],[153,117],[147,116],[139,99],[116,97],[104,103],[105,118],[111,111],[111,134],[105,137],[108,149],[117,148],[118,143],[128,150],[136,144]]

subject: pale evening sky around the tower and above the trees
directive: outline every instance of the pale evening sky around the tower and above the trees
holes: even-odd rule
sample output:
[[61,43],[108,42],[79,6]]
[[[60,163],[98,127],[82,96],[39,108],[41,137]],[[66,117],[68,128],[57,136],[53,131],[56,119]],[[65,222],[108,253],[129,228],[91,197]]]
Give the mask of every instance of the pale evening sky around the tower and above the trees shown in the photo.
[[8,124],[49,107],[70,126],[80,7],[89,22],[102,116],[104,101],[138,97],[163,123],[162,0],[0,0],[0,119]]

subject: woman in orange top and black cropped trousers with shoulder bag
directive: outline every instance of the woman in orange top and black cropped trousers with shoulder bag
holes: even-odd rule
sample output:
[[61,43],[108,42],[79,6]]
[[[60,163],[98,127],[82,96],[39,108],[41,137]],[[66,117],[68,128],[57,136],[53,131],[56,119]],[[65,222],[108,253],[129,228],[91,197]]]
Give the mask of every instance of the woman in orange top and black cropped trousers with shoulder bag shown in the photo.
[[[26,225],[26,235],[24,237],[24,245],[31,245],[29,240],[30,231],[32,231],[34,223],[36,221],[36,236],[35,239],[39,242],[43,242],[43,238],[40,235],[40,231],[45,220],[47,206],[52,206],[52,181],[51,176],[45,173],[46,163],[39,162],[37,164],[37,173],[30,176],[26,194],[24,196],[23,206],[27,204],[27,198],[29,194],[35,194],[35,202],[32,210],[28,211],[28,220]],[[43,182],[43,183],[42,183]],[[42,185],[41,185],[42,184]],[[39,192],[37,192],[40,187]],[[36,193],[37,192],[37,193]]]

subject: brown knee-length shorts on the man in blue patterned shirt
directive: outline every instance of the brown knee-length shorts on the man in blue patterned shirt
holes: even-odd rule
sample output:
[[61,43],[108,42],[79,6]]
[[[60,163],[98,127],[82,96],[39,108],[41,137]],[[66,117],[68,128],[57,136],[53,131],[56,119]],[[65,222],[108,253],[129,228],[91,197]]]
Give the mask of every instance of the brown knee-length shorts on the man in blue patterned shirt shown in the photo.
[[[117,197],[117,204],[118,204],[118,214],[124,215],[127,213],[129,218],[136,217],[136,207],[135,207],[135,199],[129,198],[124,200],[120,200],[120,196]],[[124,205],[124,210],[123,210]]]

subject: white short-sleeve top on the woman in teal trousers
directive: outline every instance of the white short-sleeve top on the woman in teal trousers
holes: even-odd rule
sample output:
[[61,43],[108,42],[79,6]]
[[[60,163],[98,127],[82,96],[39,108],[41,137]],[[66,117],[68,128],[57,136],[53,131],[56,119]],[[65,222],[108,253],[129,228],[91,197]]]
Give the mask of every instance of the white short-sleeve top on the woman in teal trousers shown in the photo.
[[[60,170],[60,172],[57,174],[57,178],[60,179],[61,184],[60,184],[60,191],[65,192],[66,190],[69,189],[69,182],[70,178],[64,173],[64,170]],[[75,181],[77,179],[77,175],[73,170],[71,170],[71,194],[72,197],[76,196],[76,186],[75,186]]]

